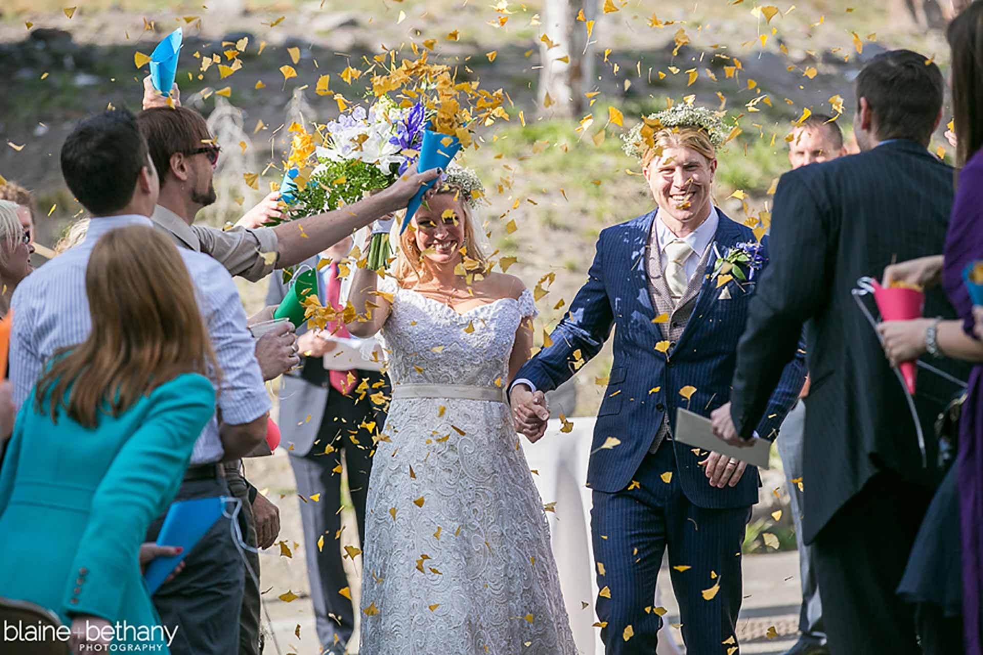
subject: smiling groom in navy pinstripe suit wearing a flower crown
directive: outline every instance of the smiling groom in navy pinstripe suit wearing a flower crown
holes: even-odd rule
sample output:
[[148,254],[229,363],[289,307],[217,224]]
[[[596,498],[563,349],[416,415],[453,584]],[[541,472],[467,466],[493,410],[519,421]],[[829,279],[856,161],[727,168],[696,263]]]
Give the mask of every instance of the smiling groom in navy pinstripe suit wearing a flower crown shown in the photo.
[[[681,127],[656,133],[655,144],[642,163],[658,210],[601,233],[587,283],[550,335],[553,345],[519,370],[510,403],[520,431],[539,439],[543,394],[597,355],[616,327],[587,475],[601,638],[609,655],[655,652],[662,610],[653,605],[667,547],[687,651],[726,653],[737,645],[741,544],[760,478],[754,466],[672,434],[677,408],[709,416],[730,397],[767,241],[764,260],[741,265],[746,282],[718,271],[720,257],[757,240],[711,201],[711,138]],[[758,424],[762,437],[774,439],[804,379],[800,355]]]

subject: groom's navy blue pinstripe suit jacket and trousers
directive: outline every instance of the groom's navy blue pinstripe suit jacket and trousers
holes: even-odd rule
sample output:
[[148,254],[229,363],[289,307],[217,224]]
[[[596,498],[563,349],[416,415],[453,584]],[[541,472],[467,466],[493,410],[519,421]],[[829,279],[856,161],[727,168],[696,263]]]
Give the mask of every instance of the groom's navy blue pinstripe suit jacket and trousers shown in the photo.
[[[709,416],[730,397],[737,342],[755,285],[731,281],[718,287],[710,273],[718,253],[723,256],[728,247],[755,237],[720,212],[709,254],[695,274],[702,279],[698,293],[690,300],[684,296],[676,307],[687,310],[687,322],[663,353],[656,350],[665,335],[654,322],[660,312],[646,266],[655,218],[653,211],[601,233],[588,281],[550,335],[552,346],[530,359],[516,379],[525,378],[544,392],[555,389],[573,374],[575,353],[584,359],[597,355],[616,327],[614,362],[587,475],[594,489],[594,552],[605,572],[598,567],[598,616],[607,623],[602,638],[608,654],[655,652],[662,620],[652,604],[668,544],[670,564],[689,567],[671,573],[688,652],[709,655],[726,652],[722,642],[733,635],[740,608],[741,542],[760,478],[748,466],[736,486],[717,489],[698,464],[706,452],[694,453],[672,440],[649,451],[664,418],[671,432],[675,409]],[[764,245],[767,257],[767,240]],[[688,302],[695,303],[691,312]],[[775,437],[804,379],[800,354],[785,368],[758,425],[760,435]],[[679,394],[686,386],[696,388],[689,401]],[[608,437],[620,443],[602,448]],[[705,600],[702,592],[718,584],[716,595]],[[629,626],[634,636],[625,639]]]

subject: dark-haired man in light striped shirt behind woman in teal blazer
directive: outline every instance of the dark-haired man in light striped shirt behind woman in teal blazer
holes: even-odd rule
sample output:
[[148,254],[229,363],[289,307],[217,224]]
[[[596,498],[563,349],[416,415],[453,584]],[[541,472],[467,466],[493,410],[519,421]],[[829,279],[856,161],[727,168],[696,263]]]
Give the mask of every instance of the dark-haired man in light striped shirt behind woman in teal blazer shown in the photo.
[[[62,147],[61,164],[69,189],[92,218],[86,240],[26,278],[12,300],[11,380],[18,406],[46,360],[85,340],[91,329],[85,280],[92,247],[117,227],[151,225],[159,191],[146,141],[126,111],[107,111],[81,123]],[[243,457],[261,442],[270,402],[232,278],[206,255],[192,250],[181,255],[195,281],[221,387],[216,417],[195,444],[175,500],[227,497],[219,464]],[[148,539],[155,539],[161,520],[151,526]],[[238,653],[244,565],[230,534],[230,520],[219,519],[185,559],[185,570],[154,595],[161,622],[180,627],[172,653]]]

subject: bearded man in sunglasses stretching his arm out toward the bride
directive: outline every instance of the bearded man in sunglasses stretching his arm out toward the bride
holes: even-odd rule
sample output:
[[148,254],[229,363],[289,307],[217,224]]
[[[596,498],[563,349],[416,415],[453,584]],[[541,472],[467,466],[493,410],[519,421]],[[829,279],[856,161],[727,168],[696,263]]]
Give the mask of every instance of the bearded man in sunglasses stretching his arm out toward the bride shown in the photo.
[[[177,246],[208,254],[220,261],[232,275],[253,282],[266,277],[275,268],[299,264],[377,218],[405,207],[420,186],[437,175],[435,171],[407,175],[406,179],[389,189],[343,210],[325,212],[273,228],[218,230],[195,225],[199,210],[216,199],[212,178],[218,162],[219,146],[209,133],[202,115],[180,106],[177,84],[172,92],[173,107],[168,106],[153,90],[149,78],[145,79],[144,91],[144,111],[138,122],[160,178],[157,207],[150,220],[157,228],[168,232]],[[279,216],[277,198],[275,193],[267,195],[250,213]],[[258,222],[251,221],[254,224]],[[251,321],[261,320],[261,315],[262,312]],[[263,339],[270,337],[266,335]],[[272,367],[264,365],[260,353],[263,342],[260,340],[257,355],[266,379],[276,377],[299,361],[292,333],[280,334],[275,338],[284,340],[277,344],[280,350],[289,338],[289,345],[293,348],[289,353],[291,365],[267,373]],[[233,495],[243,500],[240,522],[247,543],[260,548],[272,545],[279,531],[278,510],[245,480],[239,462],[227,463],[225,474]],[[250,566],[259,575],[260,558],[253,554],[247,557]],[[260,589],[252,576],[247,574],[240,626],[241,655],[258,655],[261,652],[260,632]]]

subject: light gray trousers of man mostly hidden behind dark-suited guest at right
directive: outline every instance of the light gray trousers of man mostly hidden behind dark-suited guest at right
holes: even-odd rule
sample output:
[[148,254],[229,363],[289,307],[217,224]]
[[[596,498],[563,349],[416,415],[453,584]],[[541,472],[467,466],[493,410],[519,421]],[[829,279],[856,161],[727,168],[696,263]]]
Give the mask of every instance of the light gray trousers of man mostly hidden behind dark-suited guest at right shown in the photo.
[[779,455],[788,483],[791,499],[792,522],[795,525],[795,541],[799,552],[799,573],[802,579],[802,609],[799,611],[799,631],[802,636],[820,643],[826,642],[823,627],[823,603],[819,599],[819,582],[816,579],[815,556],[812,546],[802,541],[802,491],[798,483],[802,477],[802,441],[805,432],[805,405],[799,401],[788,412],[779,432]]

